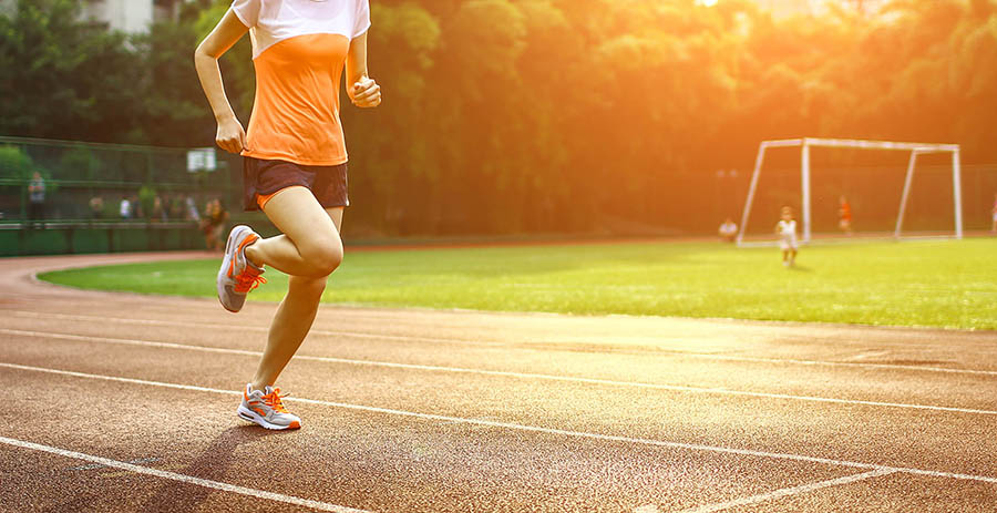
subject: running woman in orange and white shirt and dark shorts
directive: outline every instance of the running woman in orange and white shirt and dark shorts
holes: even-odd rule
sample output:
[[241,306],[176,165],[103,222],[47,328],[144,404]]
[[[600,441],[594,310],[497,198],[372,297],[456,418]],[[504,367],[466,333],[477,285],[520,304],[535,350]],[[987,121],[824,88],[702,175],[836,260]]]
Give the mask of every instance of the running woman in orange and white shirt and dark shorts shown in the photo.
[[[342,261],[339,237],[347,196],[347,151],[339,121],[346,69],[353,105],[381,103],[367,73],[368,0],[235,0],[195,51],[195,65],[218,122],[215,142],[240,153],[246,209],[263,209],[281,235],[248,226],[228,235],[218,299],[237,312],[266,279],[266,266],[290,275],[256,376],[237,413],[267,429],[298,429],[274,388],[311,329],[326,280]],[[218,59],[249,32],[256,99],[248,134],[225,95]]]

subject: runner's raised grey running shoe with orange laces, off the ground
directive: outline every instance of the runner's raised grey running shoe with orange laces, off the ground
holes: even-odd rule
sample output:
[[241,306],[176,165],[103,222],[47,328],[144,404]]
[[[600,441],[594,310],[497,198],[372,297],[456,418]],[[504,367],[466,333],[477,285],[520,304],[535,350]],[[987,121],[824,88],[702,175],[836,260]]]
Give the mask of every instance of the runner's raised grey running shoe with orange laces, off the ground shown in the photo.
[[222,258],[222,268],[218,269],[218,301],[226,310],[237,312],[246,304],[246,295],[249,290],[267,283],[259,276],[263,267],[257,267],[246,258],[246,246],[259,240],[259,235],[253,228],[244,225],[232,228],[228,234],[228,243],[225,244],[225,256]]

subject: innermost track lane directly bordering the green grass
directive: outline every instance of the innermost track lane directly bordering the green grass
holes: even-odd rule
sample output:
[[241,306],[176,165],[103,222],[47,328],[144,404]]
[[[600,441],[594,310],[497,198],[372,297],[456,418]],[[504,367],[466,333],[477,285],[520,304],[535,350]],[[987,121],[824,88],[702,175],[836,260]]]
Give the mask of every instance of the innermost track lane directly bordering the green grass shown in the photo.
[[[121,300],[119,295],[111,295]],[[121,295],[127,306],[105,304],[112,315],[94,315],[92,302],[64,305],[45,311],[19,309],[21,301],[0,300],[0,314],[11,318],[45,318],[53,321],[101,321],[117,325],[187,326],[210,330],[229,328],[265,331],[274,305],[248,302],[239,315],[218,315],[217,304],[206,299]],[[174,302],[164,306],[162,301]],[[23,306],[29,306],[24,301]],[[75,306],[75,308],[71,308]],[[454,347],[498,346],[537,352],[575,351],[600,353],[675,352],[689,358],[773,365],[829,367],[870,366],[880,370],[976,370],[997,373],[997,335],[994,332],[912,330],[816,325],[746,322],[731,330],[732,321],[614,317],[618,332],[605,331],[606,318],[556,317],[537,314],[479,314],[467,311],[391,310],[407,320],[386,320],[381,310],[325,307],[316,319],[315,335],[359,339],[450,343]],[[377,314],[377,315],[374,315]],[[51,316],[51,317],[45,317]],[[538,328],[547,320],[557,326]],[[481,326],[471,329],[464,325]],[[682,332],[675,332],[679,325]],[[599,326],[602,325],[602,326]],[[534,329],[536,328],[536,329]],[[840,332],[835,337],[825,331]]]

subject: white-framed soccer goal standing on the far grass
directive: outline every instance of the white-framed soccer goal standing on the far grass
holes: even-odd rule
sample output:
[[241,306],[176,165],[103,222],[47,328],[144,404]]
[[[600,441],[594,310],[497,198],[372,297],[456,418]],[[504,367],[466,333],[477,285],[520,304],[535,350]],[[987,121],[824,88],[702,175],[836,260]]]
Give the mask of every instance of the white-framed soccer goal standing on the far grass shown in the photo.
[[802,214],[802,233],[801,242],[809,243],[811,240],[811,167],[810,167],[810,150],[812,147],[831,147],[831,148],[857,148],[857,150],[885,150],[909,152],[907,161],[907,172],[904,177],[904,188],[900,209],[896,215],[896,227],[893,237],[900,239],[903,237],[904,214],[907,209],[907,203],[911,196],[911,188],[914,182],[914,171],[917,165],[917,157],[927,154],[950,153],[952,154],[952,185],[953,185],[953,206],[955,208],[955,238],[963,238],[963,199],[962,199],[962,166],[959,163],[959,145],[958,144],[929,144],[929,143],[895,143],[886,141],[857,141],[842,138],[790,138],[780,141],[763,141],[758,148],[758,156],[754,160],[754,172],[751,175],[751,185],[748,188],[748,199],[744,202],[744,211],[741,214],[741,225],[738,230],[738,245],[748,245],[744,242],[744,234],[748,229],[748,220],[751,216],[751,205],[754,202],[754,195],[758,189],[759,176],[765,162],[765,151],[769,148],[800,147],[800,173],[801,173],[801,214]]

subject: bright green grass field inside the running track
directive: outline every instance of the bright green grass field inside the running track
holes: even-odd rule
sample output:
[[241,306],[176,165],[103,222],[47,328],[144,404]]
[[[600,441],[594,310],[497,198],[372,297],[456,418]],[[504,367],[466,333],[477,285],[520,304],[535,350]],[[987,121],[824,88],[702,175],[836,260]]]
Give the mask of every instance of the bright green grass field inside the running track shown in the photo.
[[[388,307],[997,329],[997,240],[777,248],[633,243],[354,252],[323,300]],[[48,273],[55,284],[214,297],[219,260]],[[250,300],[277,301],[276,270]]]

